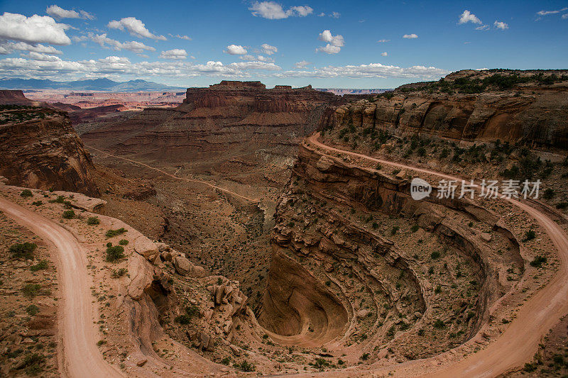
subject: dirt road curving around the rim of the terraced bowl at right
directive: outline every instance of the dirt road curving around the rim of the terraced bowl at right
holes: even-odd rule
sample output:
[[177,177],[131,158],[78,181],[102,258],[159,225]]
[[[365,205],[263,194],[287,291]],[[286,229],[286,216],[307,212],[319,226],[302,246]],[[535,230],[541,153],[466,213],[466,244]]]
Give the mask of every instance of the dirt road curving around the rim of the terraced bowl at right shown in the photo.
[[[317,138],[320,133],[316,133],[308,142],[323,150],[342,153],[359,157],[384,165],[413,170],[425,174],[436,175],[445,179],[461,180],[449,174],[435,172],[430,169],[422,169],[410,165],[381,160],[375,157],[362,155],[356,152],[339,150],[320,143]],[[484,350],[480,350],[473,355],[469,355],[460,362],[453,365],[442,366],[432,377],[496,377],[498,374],[508,371],[514,367],[522,366],[529,362],[535,354],[542,336],[555,326],[559,318],[568,313],[568,236],[555,221],[552,221],[545,213],[532,208],[528,204],[523,204],[515,199],[505,199],[514,206],[528,213],[532,218],[546,230],[548,236],[558,250],[560,268],[555,277],[544,287],[537,291],[520,308],[516,318],[510,323],[505,332],[493,343],[489,344]],[[433,358],[425,360],[415,360],[405,362],[401,365],[385,367],[379,371],[393,372],[395,375],[424,375],[424,370],[420,367],[432,367]],[[376,371],[373,371],[376,372]]]

